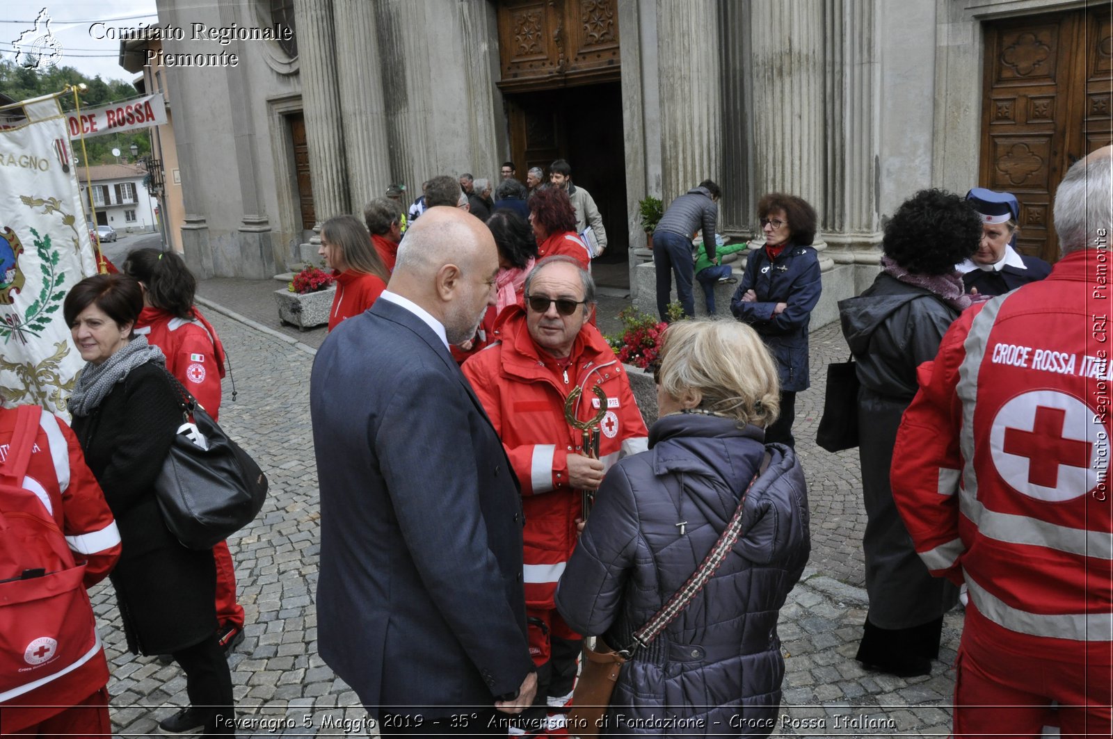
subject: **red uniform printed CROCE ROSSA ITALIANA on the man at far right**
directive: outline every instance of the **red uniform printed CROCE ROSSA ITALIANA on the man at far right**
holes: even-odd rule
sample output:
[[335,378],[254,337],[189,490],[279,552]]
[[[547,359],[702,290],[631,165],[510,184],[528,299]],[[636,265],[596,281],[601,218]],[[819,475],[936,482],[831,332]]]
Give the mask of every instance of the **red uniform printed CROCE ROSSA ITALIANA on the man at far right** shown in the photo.
[[897,435],[893,494],[916,551],[969,589],[956,736],[1038,735],[1052,700],[1064,735],[1110,733],[1111,259],[1074,252],[964,313]]

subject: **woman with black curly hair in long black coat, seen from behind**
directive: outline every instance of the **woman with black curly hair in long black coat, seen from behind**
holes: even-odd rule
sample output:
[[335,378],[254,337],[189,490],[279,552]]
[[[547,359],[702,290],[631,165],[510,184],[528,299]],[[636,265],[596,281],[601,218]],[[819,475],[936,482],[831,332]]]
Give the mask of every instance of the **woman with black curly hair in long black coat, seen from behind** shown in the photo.
[[978,248],[982,219],[969,203],[920,190],[885,227],[881,273],[858,297],[841,300],[843,334],[857,362],[858,459],[866,504],[869,613],[857,658],[902,677],[929,674],[939,656],[943,614],[958,600],[913,549],[893,502],[889,466],[900,416],[919,388],[916,367],[934,359],[943,334],[971,305],[955,265]]

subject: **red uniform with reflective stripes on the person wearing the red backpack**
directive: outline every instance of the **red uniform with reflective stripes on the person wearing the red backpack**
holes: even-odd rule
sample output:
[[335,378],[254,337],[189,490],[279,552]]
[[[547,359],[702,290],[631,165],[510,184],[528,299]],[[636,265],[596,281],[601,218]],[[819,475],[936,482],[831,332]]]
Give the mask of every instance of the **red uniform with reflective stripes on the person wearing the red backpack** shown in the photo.
[[[16,424],[16,411],[0,411],[0,457],[7,459]],[[116,565],[120,534],[105,502],[100,485],[85,464],[81,447],[69,426],[43,411],[23,486],[39,497],[66,536],[77,563],[85,562],[83,584],[89,588]],[[46,544],[43,544],[46,546]],[[92,608],[73,620],[95,622]],[[0,604],[0,608],[3,605]],[[9,656],[10,657],[10,656]],[[17,659],[23,658],[19,654]],[[7,658],[6,658],[7,659]],[[110,731],[108,726],[108,663],[100,640],[77,662],[56,666],[36,677],[37,687],[0,693],[0,728],[3,733],[33,733],[45,727],[65,733],[89,736]]]

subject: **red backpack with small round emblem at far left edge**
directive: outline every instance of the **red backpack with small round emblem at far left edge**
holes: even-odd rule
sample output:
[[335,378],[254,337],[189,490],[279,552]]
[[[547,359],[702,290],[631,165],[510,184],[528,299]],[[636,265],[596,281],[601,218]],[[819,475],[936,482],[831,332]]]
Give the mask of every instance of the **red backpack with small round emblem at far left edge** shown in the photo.
[[19,407],[8,456],[0,463],[0,703],[100,651],[82,583],[85,563],[75,562],[48,508],[49,494],[42,500],[46,491],[27,486],[41,416],[37,405]]

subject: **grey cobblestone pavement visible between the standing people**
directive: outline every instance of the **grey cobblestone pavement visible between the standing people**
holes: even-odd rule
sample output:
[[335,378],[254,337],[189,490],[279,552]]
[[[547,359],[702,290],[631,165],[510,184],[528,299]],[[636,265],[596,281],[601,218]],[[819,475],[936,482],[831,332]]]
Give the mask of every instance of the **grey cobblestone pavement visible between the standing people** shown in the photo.
[[[210,299],[217,293],[215,283],[203,286]],[[239,298],[229,299],[228,307],[252,316],[243,285],[228,285],[227,297]],[[273,311],[262,303],[257,309],[264,307]],[[244,643],[229,661],[239,733],[362,735],[367,725],[356,694],[317,654],[319,510],[308,412],[312,349],[216,309],[206,313],[236,366],[239,396],[232,402],[226,380],[223,425],[270,480],[270,496],[257,520],[229,540],[248,624]],[[274,313],[257,315],[269,321],[268,326],[277,323]],[[305,342],[304,335],[296,339]],[[824,368],[845,357],[837,325],[814,333],[814,384],[798,396],[796,428],[810,487],[812,555],[781,612],[787,673],[777,731],[811,737],[947,736],[954,684],[949,666],[961,613],[945,620],[942,659],[930,677],[904,680],[870,673],[853,659],[866,612],[857,457],[853,452],[828,454],[812,442]],[[121,736],[152,733],[158,720],[188,701],[185,678],[176,664],[161,666],[152,657],[126,651],[107,581],[91,594],[112,670],[108,687],[114,729]]]

